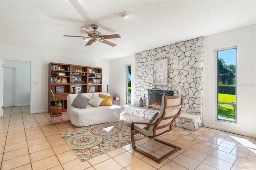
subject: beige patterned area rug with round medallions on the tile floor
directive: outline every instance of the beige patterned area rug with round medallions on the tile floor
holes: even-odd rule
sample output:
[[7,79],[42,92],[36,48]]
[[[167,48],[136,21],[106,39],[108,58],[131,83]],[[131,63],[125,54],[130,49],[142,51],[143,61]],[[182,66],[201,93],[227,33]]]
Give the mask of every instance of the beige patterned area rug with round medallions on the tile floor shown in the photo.
[[[131,143],[129,119],[101,123],[82,128],[60,132],[60,136],[76,153],[80,160],[85,161],[116,148]],[[145,138],[141,134],[135,135],[135,140]]]

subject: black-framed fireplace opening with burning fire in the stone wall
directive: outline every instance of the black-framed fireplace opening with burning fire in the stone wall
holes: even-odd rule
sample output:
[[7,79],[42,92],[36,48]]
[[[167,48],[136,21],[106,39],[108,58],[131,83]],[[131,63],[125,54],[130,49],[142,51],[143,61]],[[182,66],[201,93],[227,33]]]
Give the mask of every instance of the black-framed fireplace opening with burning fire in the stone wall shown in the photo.
[[173,91],[161,90],[158,88],[148,89],[148,109],[160,110],[162,96],[173,96]]

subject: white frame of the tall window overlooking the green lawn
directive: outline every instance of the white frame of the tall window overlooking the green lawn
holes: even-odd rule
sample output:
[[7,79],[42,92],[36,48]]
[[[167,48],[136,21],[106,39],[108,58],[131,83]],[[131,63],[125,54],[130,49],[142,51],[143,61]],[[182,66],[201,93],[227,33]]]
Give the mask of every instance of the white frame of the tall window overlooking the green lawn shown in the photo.
[[[224,51],[228,49],[236,49],[236,103],[228,103],[228,102],[219,102],[219,95],[218,95],[218,51]],[[236,105],[236,117],[234,121],[218,119],[218,104],[225,104],[225,105]],[[215,105],[215,121],[225,122],[225,123],[233,123],[237,124],[237,46],[227,47],[227,48],[219,48],[214,49],[214,105]]]

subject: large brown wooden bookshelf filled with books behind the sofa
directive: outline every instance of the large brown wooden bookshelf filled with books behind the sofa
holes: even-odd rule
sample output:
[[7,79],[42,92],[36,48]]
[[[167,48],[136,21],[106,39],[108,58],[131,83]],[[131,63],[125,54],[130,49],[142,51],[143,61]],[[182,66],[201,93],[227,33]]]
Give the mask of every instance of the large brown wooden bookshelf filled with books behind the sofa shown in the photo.
[[[62,82],[63,79],[66,79],[65,83]],[[50,90],[54,93],[55,99],[61,100],[63,106],[62,111],[67,111],[67,96],[70,93],[75,93],[74,87],[81,87],[81,93],[92,93],[90,92],[91,89],[95,89],[95,93],[102,92],[102,68],[49,63],[48,84],[48,112],[50,113],[50,107],[54,106],[54,99]],[[64,91],[62,92],[64,93],[56,93],[56,87],[58,86],[63,86]]]

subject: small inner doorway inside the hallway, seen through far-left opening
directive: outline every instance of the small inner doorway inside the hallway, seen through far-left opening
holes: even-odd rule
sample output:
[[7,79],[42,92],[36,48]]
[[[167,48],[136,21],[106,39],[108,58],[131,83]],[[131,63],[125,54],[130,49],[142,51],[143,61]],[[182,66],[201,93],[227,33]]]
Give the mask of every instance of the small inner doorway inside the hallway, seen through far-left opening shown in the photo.
[[15,94],[16,94],[16,69],[15,68],[4,68],[3,77],[4,93],[3,93],[3,106],[12,107],[15,106]]

